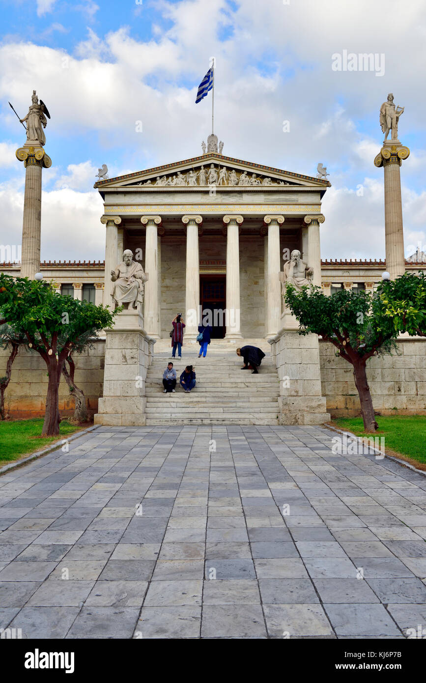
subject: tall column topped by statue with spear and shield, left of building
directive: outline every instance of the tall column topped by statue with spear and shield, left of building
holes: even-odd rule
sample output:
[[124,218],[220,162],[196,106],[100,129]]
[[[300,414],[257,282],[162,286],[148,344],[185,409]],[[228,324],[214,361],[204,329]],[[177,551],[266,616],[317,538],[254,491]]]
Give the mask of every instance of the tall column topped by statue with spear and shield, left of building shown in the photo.
[[[27,124],[27,141],[16,150],[16,158],[24,162],[25,193],[22,236],[22,257],[20,277],[33,279],[40,271],[40,242],[42,231],[42,169],[50,168],[52,160],[44,152],[46,136],[46,117],[50,119],[47,107],[33,90],[31,107],[27,115],[20,119]],[[11,105],[12,106],[12,105]],[[13,109],[13,107],[12,107]]]

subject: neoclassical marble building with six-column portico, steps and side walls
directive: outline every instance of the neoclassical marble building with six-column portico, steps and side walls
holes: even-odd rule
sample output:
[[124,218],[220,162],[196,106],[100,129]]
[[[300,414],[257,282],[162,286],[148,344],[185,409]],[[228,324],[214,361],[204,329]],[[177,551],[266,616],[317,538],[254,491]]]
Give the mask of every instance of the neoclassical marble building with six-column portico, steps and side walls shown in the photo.
[[[386,154],[385,150],[385,163]],[[392,154],[390,150],[391,161]],[[208,150],[201,156],[96,182],[104,201],[104,262],[40,264],[44,278],[62,294],[112,307],[111,271],[122,262],[123,252],[130,249],[145,270],[143,318],[138,325],[130,329],[133,323],[120,322],[114,332],[106,333],[106,343],[105,337],[100,339],[77,363],[76,381],[89,398],[96,422],[313,424],[328,420],[330,414],[358,412],[350,367],[335,357],[330,345],[318,343],[316,335],[300,337],[296,320],[283,307],[283,270],[294,250],[309,267],[311,281],[322,285],[326,294],[339,288],[373,290],[386,270],[384,261],[321,260],[321,204],[329,186],[324,178],[224,156],[216,136],[209,137]],[[405,262],[407,270],[425,265],[422,260]],[[5,262],[0,267],[19,275],[19,264]],[[403,271],[404,264],[399,267]],[[197,353],[197,316],[209,311],[211,350],[215,340],[219,349],[230,353],[236,345],[253,341],[270,350],[263,378],[259,374],[260,383],[254,384],[255,378],[232,375],[236,357],[226,358],[217,388],[211,378],[200,375],[197,395],[189,399],[176,394],[173,401],[161,399],[158,406],[164,363],[158,354],[170,348],[171,320],[182,312],[186,350],[192,342]],[[423,349],[419,340],[404,340],[402,357],[371,359],[377,410],[426,413],[426,383],[418,372]],[[37,362],[24,357],[15,361],[23,370]],[[4,352],[0,364],[5,365]],[[135,388],[134,378],[139,376],[143,382]],[[26,372],[22,382],[22,374],[17,382],[12,379],[6,408],[17,417],[42,413],[43,373]],[[65,387],[60,407],[72,410]]]

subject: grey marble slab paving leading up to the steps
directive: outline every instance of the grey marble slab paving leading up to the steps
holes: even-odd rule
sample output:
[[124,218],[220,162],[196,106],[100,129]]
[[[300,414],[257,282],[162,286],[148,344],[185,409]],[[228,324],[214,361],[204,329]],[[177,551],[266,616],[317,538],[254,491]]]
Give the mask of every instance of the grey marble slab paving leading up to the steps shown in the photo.
[[71,639],[424,628],[426,477],[332,454],[333,436],[100,427],[6,473],[0,626]]

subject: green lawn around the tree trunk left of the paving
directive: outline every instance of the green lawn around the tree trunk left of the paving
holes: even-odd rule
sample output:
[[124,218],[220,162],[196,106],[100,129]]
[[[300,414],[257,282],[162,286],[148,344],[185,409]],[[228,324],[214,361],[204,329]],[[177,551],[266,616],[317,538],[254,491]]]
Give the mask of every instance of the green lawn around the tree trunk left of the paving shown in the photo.
[[[31,420],[0,421],[0,466],[12,460],[18,460],[58,441],[57,436],[40,437],[43,418]],[[72,425],[68,420],[61,421],[59,441],[81,430],[81,426]]]

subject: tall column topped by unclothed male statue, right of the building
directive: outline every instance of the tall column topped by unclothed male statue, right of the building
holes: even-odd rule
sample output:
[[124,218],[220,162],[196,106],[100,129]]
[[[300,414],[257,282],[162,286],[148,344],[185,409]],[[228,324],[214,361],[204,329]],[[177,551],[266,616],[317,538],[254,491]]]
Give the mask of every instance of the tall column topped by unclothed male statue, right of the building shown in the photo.
[[374,159],[375,167],[384,169],[384,236],[386,270],[390,274],[390,279],[403,275],[406,270],[399,169],[403,160],[408,158],[410,150],[398,139],[399,117],[403,111],[403,107],[395,107],[393,94],[389,93],[386,102],[380,107],[380,126],[384,133],[384,142]]

